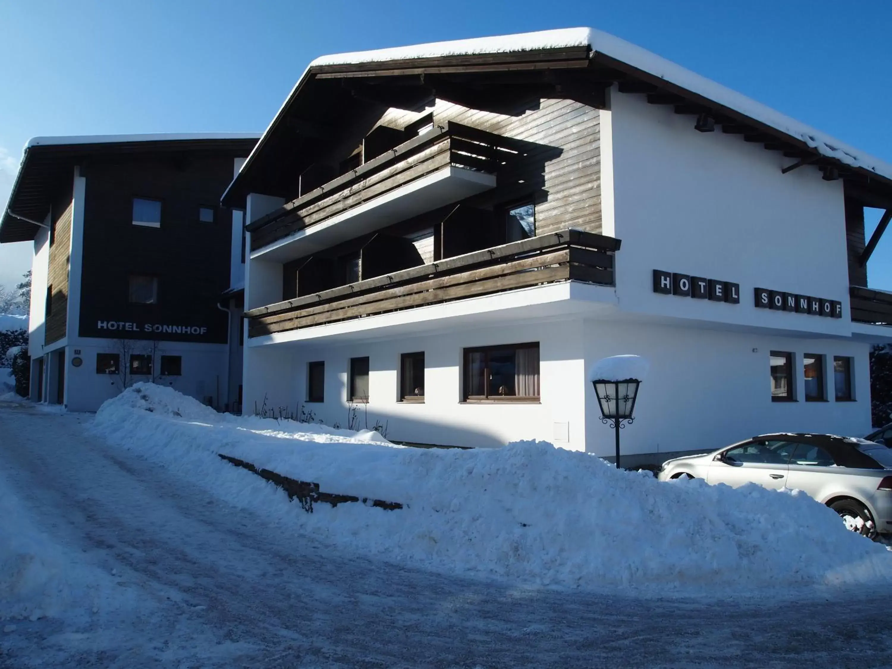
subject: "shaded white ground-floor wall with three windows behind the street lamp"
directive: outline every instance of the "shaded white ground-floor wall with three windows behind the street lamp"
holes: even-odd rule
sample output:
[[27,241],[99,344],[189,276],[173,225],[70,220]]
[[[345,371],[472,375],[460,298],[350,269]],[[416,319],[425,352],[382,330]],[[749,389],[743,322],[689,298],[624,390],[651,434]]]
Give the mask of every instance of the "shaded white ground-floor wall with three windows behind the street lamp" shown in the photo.
[[[594,320],[586,321],[584,332],[587,368],[601,358],[624,353],[642,355],[650,362],[635,422],[622,432],[624,453],[713,450],[769,432],[861,436],[871,431],[870,344]],[[772,402],[772,350],[795,354],[798,401]],[[826,356],[829,401],[805,401],[804,353]],[[855,401],[834,401],[835,355],[854,358]],[[614,434],[599,421],[591,384],[585,393],[588,450],[612,456]]]

